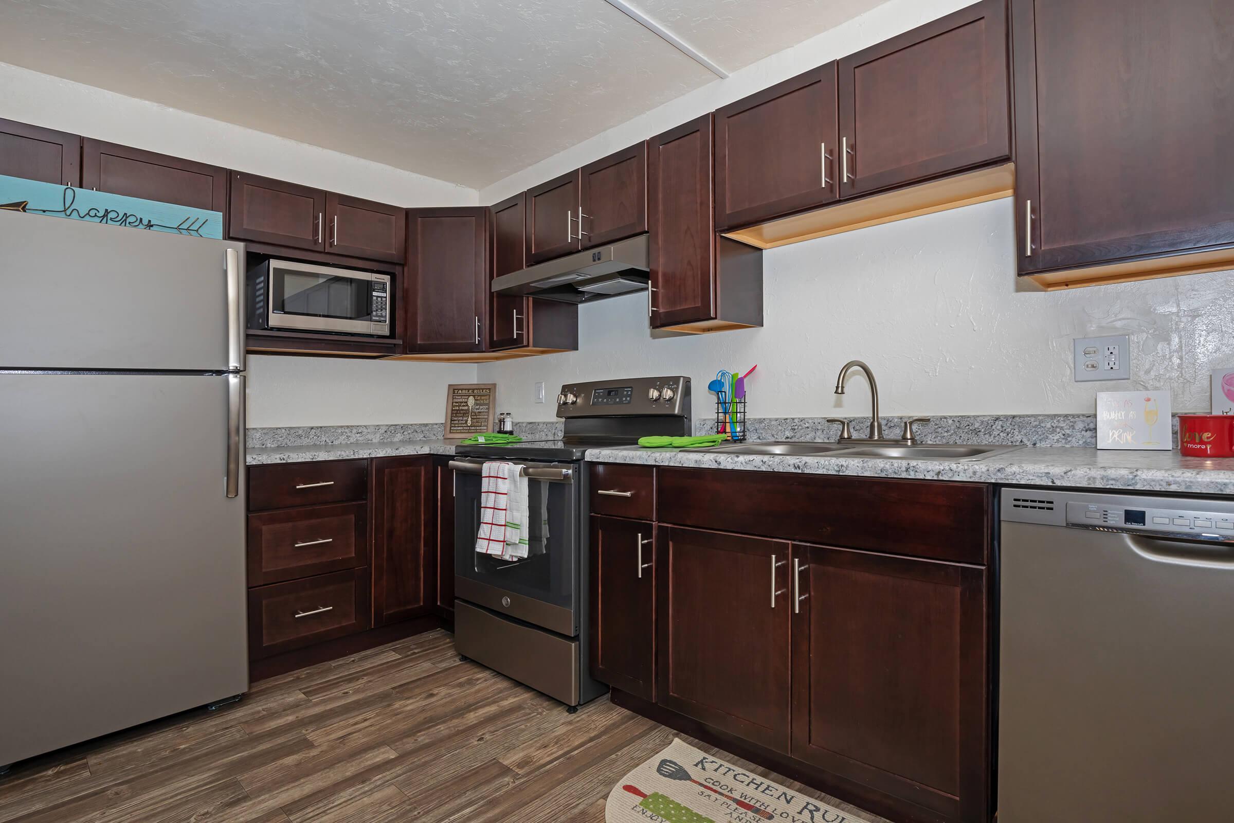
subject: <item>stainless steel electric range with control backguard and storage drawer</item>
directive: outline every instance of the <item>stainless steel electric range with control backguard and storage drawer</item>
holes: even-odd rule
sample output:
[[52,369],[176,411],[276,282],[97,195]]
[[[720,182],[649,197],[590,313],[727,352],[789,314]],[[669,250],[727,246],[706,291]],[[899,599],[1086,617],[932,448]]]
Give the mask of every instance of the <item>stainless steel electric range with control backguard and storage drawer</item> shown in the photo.
[[[574,711],[607,686],[589,663],[589,448],[690,433],[690,378],[634,378],[561,386],[559,440],[459,445],[454,470],[454,642],[459,654],[537,689]],[[523,466],[529,554],[475,550],[480,475],[487,460]]]

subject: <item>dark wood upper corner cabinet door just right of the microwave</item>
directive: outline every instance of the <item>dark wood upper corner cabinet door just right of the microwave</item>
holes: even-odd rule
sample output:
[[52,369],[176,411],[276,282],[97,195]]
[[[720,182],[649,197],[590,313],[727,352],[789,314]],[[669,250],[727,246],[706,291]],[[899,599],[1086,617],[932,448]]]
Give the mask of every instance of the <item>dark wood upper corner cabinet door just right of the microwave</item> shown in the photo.
[[484,350],[489,210],[407,210],[404,332],[407,352]]

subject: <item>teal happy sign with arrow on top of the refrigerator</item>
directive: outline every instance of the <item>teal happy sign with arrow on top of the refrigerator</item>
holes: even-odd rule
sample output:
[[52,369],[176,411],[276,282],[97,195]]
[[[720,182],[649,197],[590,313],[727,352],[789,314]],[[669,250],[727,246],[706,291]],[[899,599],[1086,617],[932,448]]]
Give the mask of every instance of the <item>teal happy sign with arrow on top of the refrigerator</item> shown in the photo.
[[0,210],[222,239],[223,213],[0,174]]

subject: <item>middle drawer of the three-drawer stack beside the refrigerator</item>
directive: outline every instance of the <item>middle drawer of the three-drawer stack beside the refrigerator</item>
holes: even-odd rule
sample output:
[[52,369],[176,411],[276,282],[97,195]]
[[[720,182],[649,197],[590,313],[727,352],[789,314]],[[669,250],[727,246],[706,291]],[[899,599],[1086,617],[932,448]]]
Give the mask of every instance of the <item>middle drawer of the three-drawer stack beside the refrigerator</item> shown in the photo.
[[343,503],[248,516],[248,585],[368,565],[368,506]]

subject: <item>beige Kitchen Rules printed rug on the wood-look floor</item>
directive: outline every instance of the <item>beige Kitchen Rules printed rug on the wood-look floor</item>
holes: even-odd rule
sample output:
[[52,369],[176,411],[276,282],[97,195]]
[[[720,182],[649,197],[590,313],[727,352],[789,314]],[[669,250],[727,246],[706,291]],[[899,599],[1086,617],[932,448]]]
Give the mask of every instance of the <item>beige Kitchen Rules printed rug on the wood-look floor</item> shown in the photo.
[[608,793],[608,823],[868,823],[674,739]]

